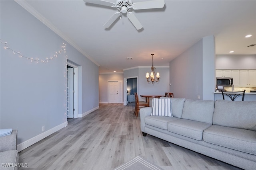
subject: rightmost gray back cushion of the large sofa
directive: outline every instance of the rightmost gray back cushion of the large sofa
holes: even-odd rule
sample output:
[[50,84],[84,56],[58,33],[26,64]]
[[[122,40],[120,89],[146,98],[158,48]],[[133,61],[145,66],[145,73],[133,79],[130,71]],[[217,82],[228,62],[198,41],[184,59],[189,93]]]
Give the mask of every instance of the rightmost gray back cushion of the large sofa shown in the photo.
[[256,101],[217,100],[213,124],[256,131]]

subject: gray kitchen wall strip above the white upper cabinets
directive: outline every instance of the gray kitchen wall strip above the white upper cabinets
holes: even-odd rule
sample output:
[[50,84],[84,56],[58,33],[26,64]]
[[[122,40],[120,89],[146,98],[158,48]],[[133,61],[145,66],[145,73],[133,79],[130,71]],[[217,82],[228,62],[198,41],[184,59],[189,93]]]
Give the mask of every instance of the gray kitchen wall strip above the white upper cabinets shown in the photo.
[[216,55],[216,69],[256,69],[256,55]]

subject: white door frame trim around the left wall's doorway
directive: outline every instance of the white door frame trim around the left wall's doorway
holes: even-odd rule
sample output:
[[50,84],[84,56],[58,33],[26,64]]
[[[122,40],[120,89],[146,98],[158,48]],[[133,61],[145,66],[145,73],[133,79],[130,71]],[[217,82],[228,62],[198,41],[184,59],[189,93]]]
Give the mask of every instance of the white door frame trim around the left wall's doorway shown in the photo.
[[67,65],[74,68],[74,118],[78,118],[78,65],[69,60],[67,61]]

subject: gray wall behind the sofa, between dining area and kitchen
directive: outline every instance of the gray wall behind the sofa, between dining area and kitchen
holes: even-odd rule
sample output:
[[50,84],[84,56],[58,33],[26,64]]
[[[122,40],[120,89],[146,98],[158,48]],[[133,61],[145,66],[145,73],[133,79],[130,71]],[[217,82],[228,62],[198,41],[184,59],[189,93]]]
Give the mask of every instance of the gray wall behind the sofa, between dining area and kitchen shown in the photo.
[[170,92],[175,98],[214,100],[214,36],[202,38],[170,62]]

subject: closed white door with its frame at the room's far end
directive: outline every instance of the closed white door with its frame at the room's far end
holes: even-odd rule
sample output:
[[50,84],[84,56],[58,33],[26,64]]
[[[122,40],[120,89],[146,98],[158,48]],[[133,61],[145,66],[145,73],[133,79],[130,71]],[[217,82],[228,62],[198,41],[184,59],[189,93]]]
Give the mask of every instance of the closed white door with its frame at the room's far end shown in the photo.
[[122,103],[122,80],[108,81],[108,103]]

